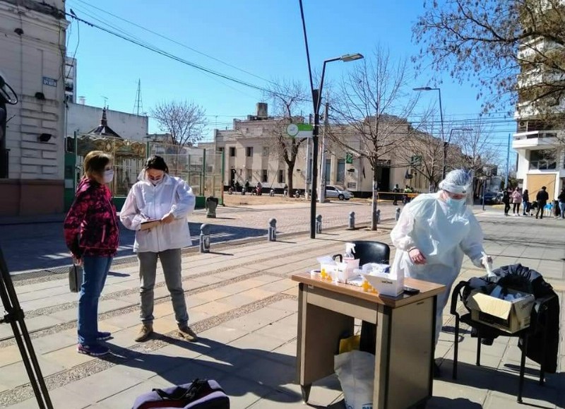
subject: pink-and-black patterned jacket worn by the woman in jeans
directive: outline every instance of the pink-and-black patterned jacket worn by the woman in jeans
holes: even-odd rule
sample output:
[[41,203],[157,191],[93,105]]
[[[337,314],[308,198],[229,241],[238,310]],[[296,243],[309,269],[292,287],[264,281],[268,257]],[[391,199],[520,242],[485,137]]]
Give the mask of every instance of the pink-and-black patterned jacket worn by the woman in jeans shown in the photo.
[[73,256],[114,256],[119,227],[112,193],[107,186],[82,179],[64,220],[66,246]]

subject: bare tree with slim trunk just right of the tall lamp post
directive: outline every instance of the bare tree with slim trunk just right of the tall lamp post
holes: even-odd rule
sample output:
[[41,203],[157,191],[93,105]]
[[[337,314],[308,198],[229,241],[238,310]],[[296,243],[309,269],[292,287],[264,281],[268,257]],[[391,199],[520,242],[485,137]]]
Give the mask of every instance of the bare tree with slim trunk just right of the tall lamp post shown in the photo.
[[414,134],[406,118],[418,94],[408,88],[407,61],[391,61],[388,50],[376,47],[363,62],[343,78],[333,105],[338,125],[330,127],[328,137],[354,157],[367,158],[373,170],[371,230],[376,230],[379,166]]

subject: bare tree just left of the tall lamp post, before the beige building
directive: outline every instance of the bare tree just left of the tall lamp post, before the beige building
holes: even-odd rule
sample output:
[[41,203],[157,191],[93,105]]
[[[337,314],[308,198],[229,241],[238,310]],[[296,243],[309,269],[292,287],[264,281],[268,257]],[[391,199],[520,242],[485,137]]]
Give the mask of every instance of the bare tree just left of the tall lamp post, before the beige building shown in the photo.
[[288,124],[304,122],[299,109],[308,101],[307,92],[297,81],[273,81],[267,97],[273,101],[275,119],[269,132],[274,138],[273,155],[287,165],[287,185],[289,194],[293,189],[293,175],[299,147],[304,138],[291,138],[287,134]]

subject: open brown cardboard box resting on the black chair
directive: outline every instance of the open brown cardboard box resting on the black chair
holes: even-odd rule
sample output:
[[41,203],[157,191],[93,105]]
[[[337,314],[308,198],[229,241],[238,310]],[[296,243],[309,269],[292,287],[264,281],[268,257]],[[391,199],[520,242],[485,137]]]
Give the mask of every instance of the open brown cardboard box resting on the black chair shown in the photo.
[[[509,294],[517,291],[509,290]],[[530,315],[535,297],[531,294],[516,300],[506,301],[491,297],[475,290],[467,300],[473,321],[498,328],[508,333],[515,333],[530,326]]]

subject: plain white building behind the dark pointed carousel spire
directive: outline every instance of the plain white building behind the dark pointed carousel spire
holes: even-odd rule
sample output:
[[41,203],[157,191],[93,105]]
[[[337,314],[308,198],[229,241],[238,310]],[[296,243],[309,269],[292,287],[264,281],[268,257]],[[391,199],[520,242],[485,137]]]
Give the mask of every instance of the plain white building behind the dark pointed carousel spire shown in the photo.
[[[80,98],[79,98],[80,100]],[[69,103],[67,109],[66,135],[73,136],[74,132],[85,134],[96,128],[102,119],[102,109],[90,105]],[[147,141],[149,131],[149,118],[141,115],[128,114],[126,112],[112,111],[106,109],[106,117],[109,126],[121,138],[130,141]]]

